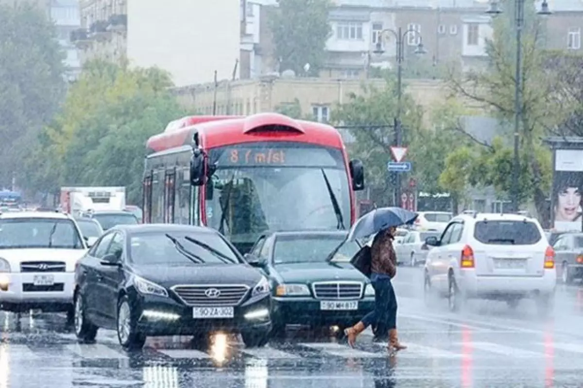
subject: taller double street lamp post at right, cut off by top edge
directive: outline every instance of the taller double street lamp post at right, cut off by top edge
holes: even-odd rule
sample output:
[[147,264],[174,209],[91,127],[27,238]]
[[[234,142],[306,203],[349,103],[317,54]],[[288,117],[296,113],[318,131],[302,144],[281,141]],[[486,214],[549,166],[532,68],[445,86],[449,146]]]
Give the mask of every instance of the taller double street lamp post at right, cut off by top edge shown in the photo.
[[[512,166],[512,211],[518,212],[518,196],[519,196],[519,176],[520,176],[520,158],[518,154],[519,148],[519,129],[522,120],[522,29],[524,28],[524,2],[525,0],[515,0],[515,26],[516,26],[516,83],[514,89],[514,166]],[[491,1],[490,8],[486,11],[489,15],[500,15],[498,1]],[[540,5],[538,15],[550,15],[549,3],[543,0]]]

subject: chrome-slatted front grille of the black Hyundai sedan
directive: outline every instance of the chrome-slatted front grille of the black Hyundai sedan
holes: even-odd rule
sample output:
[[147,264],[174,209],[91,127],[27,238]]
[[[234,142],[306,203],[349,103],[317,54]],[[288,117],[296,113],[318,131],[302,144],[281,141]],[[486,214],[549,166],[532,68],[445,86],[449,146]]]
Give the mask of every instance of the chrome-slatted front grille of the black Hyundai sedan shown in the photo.
[[171,289],[189,306],[236,306],[243,301],[249,291],[249,287],[244,284],[234,286],[174,286]]

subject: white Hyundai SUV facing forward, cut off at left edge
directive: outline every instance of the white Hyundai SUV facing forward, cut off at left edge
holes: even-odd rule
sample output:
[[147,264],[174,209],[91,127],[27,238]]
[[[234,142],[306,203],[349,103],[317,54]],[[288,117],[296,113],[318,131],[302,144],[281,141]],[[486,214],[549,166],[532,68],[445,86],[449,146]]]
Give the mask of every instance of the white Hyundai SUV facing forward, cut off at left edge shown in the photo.
[[0,214],[0,309],[66,311],[71,320],[75,265],[86,250],[64,213]]

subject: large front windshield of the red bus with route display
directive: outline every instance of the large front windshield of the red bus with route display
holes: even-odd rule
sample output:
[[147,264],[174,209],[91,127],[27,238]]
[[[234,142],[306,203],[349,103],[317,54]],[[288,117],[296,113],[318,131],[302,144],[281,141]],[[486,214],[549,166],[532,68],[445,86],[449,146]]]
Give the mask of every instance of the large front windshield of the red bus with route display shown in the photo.
[[[210,160],[217,170],[213,198],[206,201],[208,226],[243,251],[267,230],[350,226],[350,187],[338,149],[252,143],[212,149]],[[332,197],[338,202],[343,225]]]

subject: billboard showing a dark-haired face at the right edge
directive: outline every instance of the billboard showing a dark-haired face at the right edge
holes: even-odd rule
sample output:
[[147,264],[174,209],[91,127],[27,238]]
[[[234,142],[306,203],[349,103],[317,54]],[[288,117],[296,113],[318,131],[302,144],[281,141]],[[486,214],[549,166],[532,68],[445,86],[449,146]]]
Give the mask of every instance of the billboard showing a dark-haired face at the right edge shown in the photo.
[[583,150],[556,149],[554,154],[552,219],[557,232],[582,231]]

